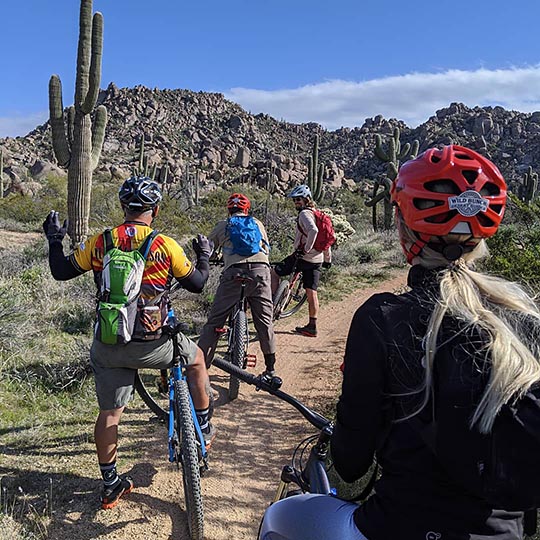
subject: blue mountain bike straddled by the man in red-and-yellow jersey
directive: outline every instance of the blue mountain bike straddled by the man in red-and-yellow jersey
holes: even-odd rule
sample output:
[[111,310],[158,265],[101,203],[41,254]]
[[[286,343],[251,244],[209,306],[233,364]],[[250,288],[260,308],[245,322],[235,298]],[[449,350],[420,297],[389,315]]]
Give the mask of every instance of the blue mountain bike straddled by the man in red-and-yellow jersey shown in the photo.
[[189,535],[191,540],[203,540],[201,473],[208,469],[208,453],[189,393],[186,365],[178,346],[181,325],[164,327],[163,331],[170,334],[173,341],[173,364],[168,371],[161,370],[156,393],[145,386],[139,373],[135,377],[135,389],[158,419],[167,423],[169,461],[182,469]]

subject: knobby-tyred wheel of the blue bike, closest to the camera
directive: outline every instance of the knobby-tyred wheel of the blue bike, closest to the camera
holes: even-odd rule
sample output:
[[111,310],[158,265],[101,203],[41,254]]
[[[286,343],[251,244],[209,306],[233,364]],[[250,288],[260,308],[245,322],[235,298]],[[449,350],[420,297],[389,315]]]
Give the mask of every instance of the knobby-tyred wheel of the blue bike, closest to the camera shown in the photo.
[[197,437],[191,415],[190,395],[187,382],[174,384],[176,430],[180,444],[177,460],[182,467],[182,483],[186,501],[189,537],[191,540],[204,538],[204,509],[201,494],[201,473]]

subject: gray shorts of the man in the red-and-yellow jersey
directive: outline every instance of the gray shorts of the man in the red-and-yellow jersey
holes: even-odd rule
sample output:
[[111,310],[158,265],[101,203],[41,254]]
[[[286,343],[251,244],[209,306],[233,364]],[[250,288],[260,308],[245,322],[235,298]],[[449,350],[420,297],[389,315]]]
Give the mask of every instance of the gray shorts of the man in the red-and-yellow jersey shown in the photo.
[[[186,364],[193,364],[197,354],[195,342],[178,334],[178,345]],[[131,341],[126,345],[106,345],[94,339],[90,348],[90,366],[100,410],[126,406],[133,395],[137,369],[167,368],[172,357],[173,346],[168,336],[154,341]]]

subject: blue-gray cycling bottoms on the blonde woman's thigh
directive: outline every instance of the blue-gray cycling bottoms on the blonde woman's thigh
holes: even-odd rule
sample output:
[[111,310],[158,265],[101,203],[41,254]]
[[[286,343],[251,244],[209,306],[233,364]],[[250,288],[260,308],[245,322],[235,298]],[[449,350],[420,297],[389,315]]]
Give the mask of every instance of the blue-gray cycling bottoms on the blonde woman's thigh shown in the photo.
[[367,540],[354,523],[357,509],[330,495],[294,495],[266,510],[259,540]]

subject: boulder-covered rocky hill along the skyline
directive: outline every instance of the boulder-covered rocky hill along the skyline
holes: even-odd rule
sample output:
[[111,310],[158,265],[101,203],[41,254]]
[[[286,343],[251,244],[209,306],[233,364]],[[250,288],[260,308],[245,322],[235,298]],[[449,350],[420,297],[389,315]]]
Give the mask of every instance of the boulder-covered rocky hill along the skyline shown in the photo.
[[[167,164],[169,182],[198,171],[203,186],[247,179],[265,186],[273,175],[276,190],[282,192],[305,178],[306,157],[319,132],[326,182],[354,187],[384,174],[384,166],[374,157],[375,134],[384,139],[396,126],[402,142],[418,139],[421,150],[449,142],[470,146],[497,163],[507,180],[517,179],[530,165],[540,166],[540,112],[471,109],[453,103],[415,129],[376,116],[361,127],[326,131],[315,123],[291,124],[266,114],[252,115],[215,93],[117,88],[111,83],[99,102],[109,113],[96,172],[105,180],[129,174],[144,137],[149,163]],[[51,172],[61,174],[48,123],[26,137],[0,139],[0,148],[11,190],[32,191]]]

